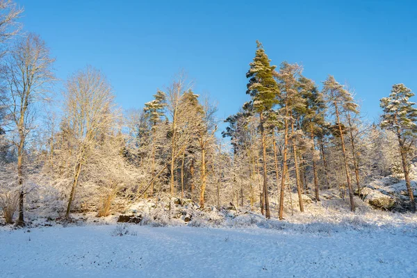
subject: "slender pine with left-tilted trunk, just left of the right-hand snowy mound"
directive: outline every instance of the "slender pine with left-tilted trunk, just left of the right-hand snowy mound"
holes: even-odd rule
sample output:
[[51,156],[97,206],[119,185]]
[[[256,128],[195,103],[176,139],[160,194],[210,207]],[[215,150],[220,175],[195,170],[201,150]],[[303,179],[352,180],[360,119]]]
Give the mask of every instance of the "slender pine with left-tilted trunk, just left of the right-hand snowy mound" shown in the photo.
[[345,147],[345,126],[343,125],[341,115],[345,111],[350,111],[352,113],[359,113],[357,111],[357,104],[354,103],[354,99],[350,92],[343,88],[343,85],[338,83],[333,76],[329,75],[326,81],[323,82],[323,94],[327,101],[327,106],[332,114],[336,117],[336,126],[334,126],[334,133],[337,134],[340,138],[342,154],[343,154],[343,165],[345,168],[347,188],[349,190],[349,199],[350,199],[350,210],[355,210],[354,199],[353,199],[353,188],[352,181],[350,179],[350,168],[349,162],[347,161],[347,153]]

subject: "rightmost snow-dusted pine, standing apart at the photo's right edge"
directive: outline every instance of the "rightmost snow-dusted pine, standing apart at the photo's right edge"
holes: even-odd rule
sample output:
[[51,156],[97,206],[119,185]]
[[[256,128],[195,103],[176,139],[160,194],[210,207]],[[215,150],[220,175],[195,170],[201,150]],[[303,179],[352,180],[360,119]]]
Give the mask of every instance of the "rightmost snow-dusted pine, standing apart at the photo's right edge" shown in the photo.
[[415,102],[409,101],[414,93],[404,84],[394,84],[389,97],[381,99],[381,108],[384,113],[381,116],[381,127],[395,133],[400,146],[402,169],[404,171],[405,184],[409,194],[411,209],[416,211],[413,190],[409,177],[409,165],[414,158],[414,143],[417,132],[417,108]]

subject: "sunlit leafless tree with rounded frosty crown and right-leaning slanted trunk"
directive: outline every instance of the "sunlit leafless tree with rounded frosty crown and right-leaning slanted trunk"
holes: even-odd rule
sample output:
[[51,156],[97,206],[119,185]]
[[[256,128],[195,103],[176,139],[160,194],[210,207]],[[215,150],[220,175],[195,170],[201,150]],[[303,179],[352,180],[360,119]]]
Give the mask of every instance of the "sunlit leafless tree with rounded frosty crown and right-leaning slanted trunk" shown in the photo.
[[115,111],[113,88],[99,70],[90,66],[70,76],[63,99],[63,122],[74,156],[72,186],[65,213],[65,218],[69,218],[83,166],[101,144],[102,136],[113,126]]

